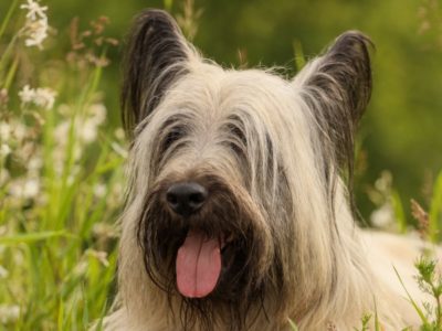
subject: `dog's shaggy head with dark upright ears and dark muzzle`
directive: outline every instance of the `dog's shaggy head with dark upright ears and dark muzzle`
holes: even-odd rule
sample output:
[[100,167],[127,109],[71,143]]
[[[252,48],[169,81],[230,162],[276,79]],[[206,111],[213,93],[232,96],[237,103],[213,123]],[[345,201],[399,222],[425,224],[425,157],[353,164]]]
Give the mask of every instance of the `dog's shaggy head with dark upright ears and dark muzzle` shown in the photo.
[[123,222],[152,284],[182,298],[185,323],[222,306],[240,325],[270,298],[269,309],[293,314],[296,298],[324,295],[339,172],[351,174],[370,95],[368,44],[347,32],[287,81],[203,60],[164,11],[136,20],[123,88],[131,138]]

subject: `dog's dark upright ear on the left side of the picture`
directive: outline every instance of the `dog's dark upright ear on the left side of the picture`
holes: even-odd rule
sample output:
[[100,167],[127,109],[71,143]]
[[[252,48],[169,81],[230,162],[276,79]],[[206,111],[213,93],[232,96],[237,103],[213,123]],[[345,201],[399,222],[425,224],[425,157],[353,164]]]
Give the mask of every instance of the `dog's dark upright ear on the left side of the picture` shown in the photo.
[[125,54],[122,94],[123,125],[130,138],[173,82],[188,72],[192,56],[194,51],[166,11],[145,10],[136,18]]

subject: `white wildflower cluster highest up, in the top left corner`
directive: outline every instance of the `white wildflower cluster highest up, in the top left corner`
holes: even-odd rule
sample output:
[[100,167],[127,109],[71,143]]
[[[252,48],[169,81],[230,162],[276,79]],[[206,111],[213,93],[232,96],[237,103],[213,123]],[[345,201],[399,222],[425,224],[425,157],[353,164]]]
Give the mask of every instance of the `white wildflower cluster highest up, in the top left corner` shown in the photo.
[[48,38],[49,30],[48,15],[45,13],[48,7],[42,7],[34,0],[28,0],[28,3],[20,6],[20,8],[28,10],[27,22],[22,29],[23,35],[27,36],[24,44],[29,47],[43,49],[43,41]]

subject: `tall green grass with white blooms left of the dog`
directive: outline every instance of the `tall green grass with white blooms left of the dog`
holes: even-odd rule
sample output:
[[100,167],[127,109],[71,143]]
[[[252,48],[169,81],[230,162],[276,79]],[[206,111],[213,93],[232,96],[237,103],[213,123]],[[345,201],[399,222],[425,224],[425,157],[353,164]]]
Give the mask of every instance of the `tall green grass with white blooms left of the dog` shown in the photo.
[[[0,330],[85,330],[115,292],[124,186],[124,137],[107,127],[98,87],[104,67],[86,57],[103,60],[107,46],[91,42],[70,60],[27,47],[12,29],[25,23],[18,4],[0,25]],[[54,106],[23,104],[28,84],[55,90]]]

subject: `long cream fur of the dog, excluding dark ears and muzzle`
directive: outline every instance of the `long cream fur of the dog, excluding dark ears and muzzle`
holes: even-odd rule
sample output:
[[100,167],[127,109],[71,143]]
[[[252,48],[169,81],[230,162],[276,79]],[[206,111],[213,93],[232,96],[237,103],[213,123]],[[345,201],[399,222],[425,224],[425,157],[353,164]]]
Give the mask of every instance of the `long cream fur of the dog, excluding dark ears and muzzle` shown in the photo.
[[[362,314],[375,312],[385,330],[415,325],[418,316],[404,300],[392,266],[403,271],[407,288],[420,301],[411,271],[419,245],[361,232],[355,225],[340,180],[334,191],[335,220],[330,218],[324,156],[318,152],[325,143],[319,136],[323,128],[302,97],[305,82],[322,60],[314,60],[288,82],[271,71],[224,70],[190,49],[189,54],[188,74],[172,84],[155,111],[138,125],[139,135],[130,150],[127,173],[131,189],[122,217],[119,299],[105,320],[105,330],[180,330],[180,319],[171,313],[167,297],[146,275],[135,233],[150,188],[173,172],[199,168],[210,168],[232,182],[250,185],[248,194],[263,215],[269,204],[283,207],[277,203],[281,201],[294,211],[286,218],[266,220],[277,224],[273,225],[278,228],[272,233],[274,242],[291,243],[278,247],[286,249],[284,258],[295,266],[284,275],[291,285],[286,293],[291,310],[285,316],[270,316],[270,321],[261,313],[253,330],[290,330],[288,319],[296,320],[299,330],[352,330]],[[152,166],[155,138],[175,114],[192,119],[182,124],[189,129],[187,146],[170,156],[167,164]],[[223,143],[231,139],[223,128],[232,115],[245,125],[245,138],[251,141],[246,150],[251,183],[244,183],[245,169]],[[267,150],[267,139],[272,151]],[[263,161],[269,153],[274,158]],[[288,196],[278,195],[278,169],[284,170]],[[265,305],[277,306],[275,299],[266,298]],[[180,299],[172,298],[171,305],[179,311]],[[229,321],[215,330],[229,330]]]

